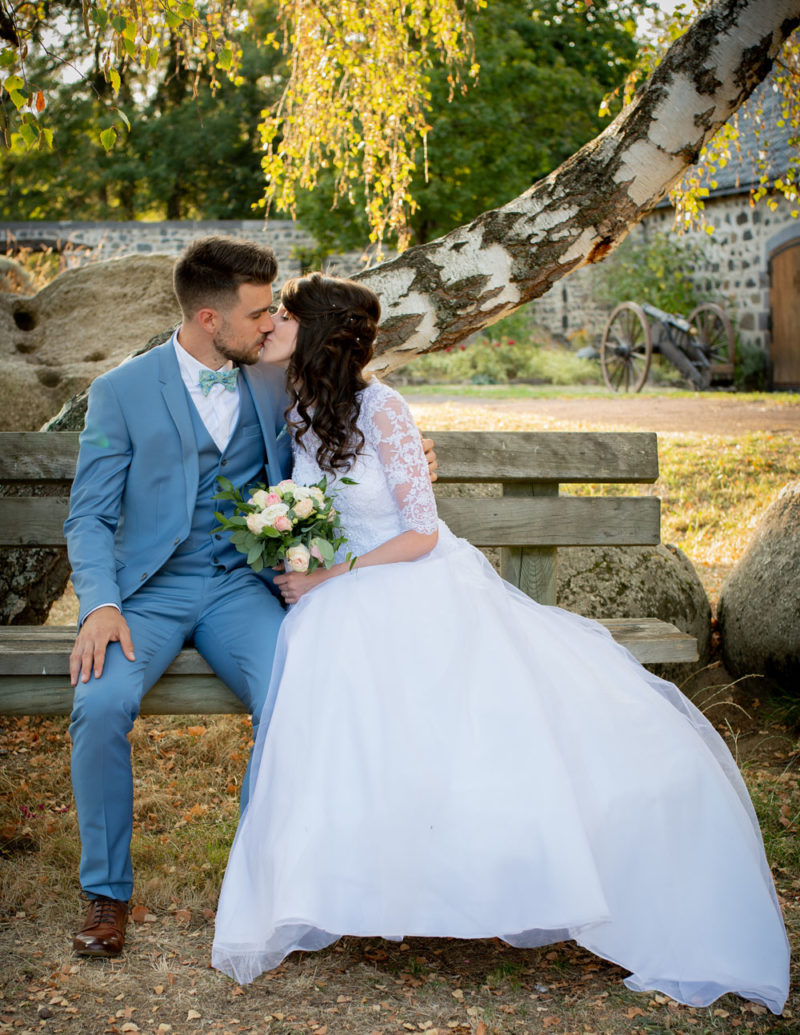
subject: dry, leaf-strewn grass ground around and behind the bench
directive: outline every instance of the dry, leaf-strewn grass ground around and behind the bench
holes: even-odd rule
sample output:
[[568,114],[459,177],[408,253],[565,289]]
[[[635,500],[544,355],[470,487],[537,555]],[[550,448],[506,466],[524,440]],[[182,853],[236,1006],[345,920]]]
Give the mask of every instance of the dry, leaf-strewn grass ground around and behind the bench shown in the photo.
[[[542,402],[507,413],[481,400],[414,404],[420,424],[440,430],[500,422],[574,428],[579,420],[586,426],[587,401],[575,405],[584,409],[571,421],[559,416],[542,424]],[[673,431],[661,437],[661,466],[664,539],[692,557],[713,596],[718,569],[741,553],[758,513],[784,481],[800,476],[794,437],[769,428]],[[69,614],[65,601],[57,621]],[[797,955],[798,731],[767,702],[728,682],[716,667],[686,689],[743,768]],[[627,992],[623,971],[570,944],[523,951],[495,941],[345,939],[324,952],[295,955],[239,988],[208,962],[247,723],[234,716],[148,718],[131,740],[136,922],[121,959],[82,960],[69,951],[83,906],[66,720],[16,719],[0,730],[0,1032],[800,1032],[798,993],[780,1018],[732,996],[690,1009]],[[798,979],[796,966],[796,986]]]

